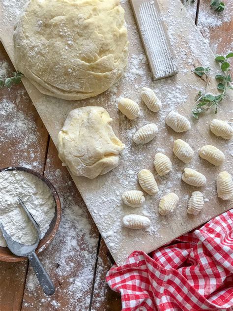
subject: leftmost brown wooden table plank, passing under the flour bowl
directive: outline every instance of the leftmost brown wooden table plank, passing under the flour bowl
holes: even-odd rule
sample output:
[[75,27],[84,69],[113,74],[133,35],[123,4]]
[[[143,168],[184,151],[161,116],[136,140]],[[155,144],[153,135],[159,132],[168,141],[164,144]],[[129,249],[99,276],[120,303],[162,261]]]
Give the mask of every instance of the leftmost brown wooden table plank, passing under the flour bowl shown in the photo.
[[[0,43],[0,68],[14,70]],[[48,132],[23,84],[0,89],[0,167],[30,165],[43,172]],[[28,263],[0,262],[0,311],[21,309]]]

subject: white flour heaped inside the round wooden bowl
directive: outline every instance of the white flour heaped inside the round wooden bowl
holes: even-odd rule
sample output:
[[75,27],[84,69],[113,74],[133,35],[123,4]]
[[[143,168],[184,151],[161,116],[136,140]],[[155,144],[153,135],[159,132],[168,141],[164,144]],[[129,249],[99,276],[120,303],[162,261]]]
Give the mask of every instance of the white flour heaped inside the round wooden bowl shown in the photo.
[[[36,230],[17,196],[39,224],[42,237],[54,218],[55,201],[49,187],[38,177],[23,171],[0,172],[0,222],[13,240],[31,245],[36,239]],[[6,246],[1,232],[0,246]]]

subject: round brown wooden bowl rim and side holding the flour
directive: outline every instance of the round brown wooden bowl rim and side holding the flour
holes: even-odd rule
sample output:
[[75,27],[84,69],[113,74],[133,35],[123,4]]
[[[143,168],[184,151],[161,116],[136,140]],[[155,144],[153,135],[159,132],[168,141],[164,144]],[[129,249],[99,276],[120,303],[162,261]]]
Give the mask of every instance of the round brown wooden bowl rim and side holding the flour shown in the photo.
[[[43,239],[40,240],[40,243],[39,243],[37,249],[35,250],[35,252],[38,254],[48,247],[48,245],[53,241],[53,238],[55,237],[55,235],[58,231],[60,218],[61,218],[61,203],[60,203],[60,199],[58,196],[58,192],[47,178],[45,178],[40,173],[37,173],[37,172],[35,172],[29,168],[20,167],[20,166],[5,167],[5,168],[1,168],[0,172],[4,171],[4,170],[7,170],[7,171],[19,170],[19,171],[24,171],[24,172],[27,172],[29,174],[35,175],[38,178],[40,178],[51,189],[51,192],[53,194],[54,201],[55,201],[55,215],[54,215],[53,220],[50,223],[48,231],[46,232]],[[0,261],[16,262],[16,261],[23,261],[26,259],[28,259],[28,258],[27,257],[18,257],[16,255],[14,255],[7,247],[5,247],[5,248],[0,247]]]

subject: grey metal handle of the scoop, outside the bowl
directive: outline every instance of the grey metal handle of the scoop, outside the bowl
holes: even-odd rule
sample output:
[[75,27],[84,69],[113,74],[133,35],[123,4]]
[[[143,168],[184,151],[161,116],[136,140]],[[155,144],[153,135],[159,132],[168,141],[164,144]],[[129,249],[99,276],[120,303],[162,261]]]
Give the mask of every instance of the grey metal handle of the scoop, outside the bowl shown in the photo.
[[29,261],[31,266],[35,272],[37,279],[40,282],[41,287],[43,288],[44,293],[47,296],[51,296],[55,292],[54,283],[48,276],[47,272],[45,271],[42,263],[39,261],[39,258],[36,256],[35,252],[32,252],[28,255]]

